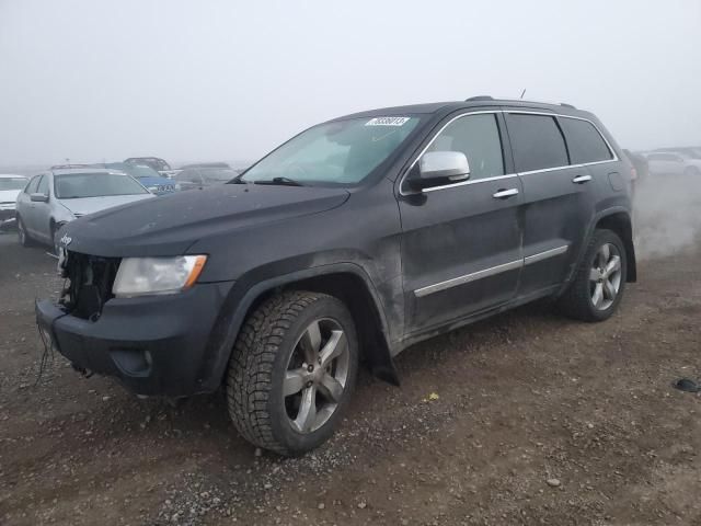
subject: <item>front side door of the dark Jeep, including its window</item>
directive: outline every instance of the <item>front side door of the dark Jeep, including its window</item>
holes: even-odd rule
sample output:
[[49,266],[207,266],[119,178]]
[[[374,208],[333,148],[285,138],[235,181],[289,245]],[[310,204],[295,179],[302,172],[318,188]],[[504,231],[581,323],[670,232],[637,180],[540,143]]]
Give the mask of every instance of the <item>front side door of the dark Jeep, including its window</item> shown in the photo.
[[521,187],[503,136],[498,113],[452,117],[425,151],[463,152],[470,179],[421,193],[400,188],[410,333],[502,305],[516,294]]

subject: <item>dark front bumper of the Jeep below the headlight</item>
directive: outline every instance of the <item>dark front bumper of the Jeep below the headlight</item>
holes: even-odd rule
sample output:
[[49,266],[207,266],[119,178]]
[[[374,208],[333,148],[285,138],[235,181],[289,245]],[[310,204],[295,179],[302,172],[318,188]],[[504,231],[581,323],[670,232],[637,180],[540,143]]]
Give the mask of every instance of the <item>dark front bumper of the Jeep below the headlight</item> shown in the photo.
[[233,282],[199,284],[182,294],[105,302],[97,321],[68,315],[54,301],[35,306],[53,344],[79,369],[120,380],[137,395],[185,397],[216,390],[226,352],[212,328]]

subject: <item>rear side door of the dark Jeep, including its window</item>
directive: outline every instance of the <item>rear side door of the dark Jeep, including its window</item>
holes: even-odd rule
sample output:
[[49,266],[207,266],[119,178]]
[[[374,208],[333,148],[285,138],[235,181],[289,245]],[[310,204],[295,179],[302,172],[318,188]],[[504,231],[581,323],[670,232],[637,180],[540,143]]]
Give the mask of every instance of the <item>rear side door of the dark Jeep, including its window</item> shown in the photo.
[[524,185],[524,270],[519,296],[561,285],[584,242],[596,193],[583,164],[572,163],[553,114],[507,112],[516,170]]

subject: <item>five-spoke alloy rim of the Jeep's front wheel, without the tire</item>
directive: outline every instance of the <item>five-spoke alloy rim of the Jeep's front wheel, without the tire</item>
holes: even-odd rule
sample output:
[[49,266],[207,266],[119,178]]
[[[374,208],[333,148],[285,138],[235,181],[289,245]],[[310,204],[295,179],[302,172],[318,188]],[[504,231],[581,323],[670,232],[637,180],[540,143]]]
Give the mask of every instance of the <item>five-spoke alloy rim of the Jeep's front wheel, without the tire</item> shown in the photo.
[[348,380],[350,352],[341,324],[312,321],[297,341],[285,375],[283,396],[290,425],[313,433],[334,413]]

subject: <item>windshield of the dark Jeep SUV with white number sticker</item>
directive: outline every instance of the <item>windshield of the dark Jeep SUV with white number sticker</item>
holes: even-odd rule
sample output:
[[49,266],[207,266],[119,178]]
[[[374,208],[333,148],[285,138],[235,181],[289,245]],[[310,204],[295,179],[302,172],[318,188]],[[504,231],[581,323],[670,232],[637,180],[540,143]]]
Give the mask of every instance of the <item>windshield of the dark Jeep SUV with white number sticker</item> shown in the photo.
[[357,184],[393,153],[418,117],[352,118],[320,124],[280,146],[241,178],[302,184]]

